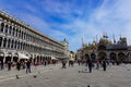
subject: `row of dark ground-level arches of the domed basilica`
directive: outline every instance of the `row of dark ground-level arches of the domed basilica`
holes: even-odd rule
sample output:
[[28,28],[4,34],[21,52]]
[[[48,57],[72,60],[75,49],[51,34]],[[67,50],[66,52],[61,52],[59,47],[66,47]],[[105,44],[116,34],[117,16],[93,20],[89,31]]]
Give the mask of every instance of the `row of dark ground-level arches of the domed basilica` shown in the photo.
[[92,52],[92,53],[86,53],[86,58],[91,58],[92,60],[112,60],[112,61],[131,61],[131,52],[128,51],[98,51],[98,52]]

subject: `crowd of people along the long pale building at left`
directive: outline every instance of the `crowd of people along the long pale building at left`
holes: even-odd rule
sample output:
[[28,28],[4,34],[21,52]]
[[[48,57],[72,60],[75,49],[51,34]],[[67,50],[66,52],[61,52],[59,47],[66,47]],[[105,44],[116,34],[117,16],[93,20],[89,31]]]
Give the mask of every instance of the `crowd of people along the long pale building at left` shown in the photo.
[[23,61],[17,61],[17,62],[11,62],[8,61],[7,63],[2,63],[0,61],[0,71],[7,70],[11,71],[12,69],[15,69],[17,71],[25,70],[26,73],[31,73],[31,66],[38,66],[38,65],[50,65],[50,64],[56,64],[57,61],[48,61],[45,60],[44,62],[32,62],[31,60],[23,60]]

